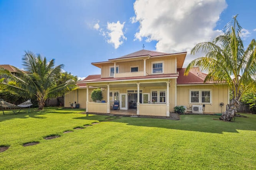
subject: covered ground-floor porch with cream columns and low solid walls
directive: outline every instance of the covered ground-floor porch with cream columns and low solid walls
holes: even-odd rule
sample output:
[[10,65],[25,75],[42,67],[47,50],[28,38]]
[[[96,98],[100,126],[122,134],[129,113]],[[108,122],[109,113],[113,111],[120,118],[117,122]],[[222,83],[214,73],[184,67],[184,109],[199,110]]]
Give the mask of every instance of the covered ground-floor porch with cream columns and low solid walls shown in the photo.
[[[88,113],[170,117],[170,104],[171,109],[176,105],[176,78],[87,84],[101,88],[106,100],[106,103],[87,100]],[[88,99],[89,93],[86,94]],[[134,100],[131,100],[131,96]],[[113,109],[114,102],[119,103],[117,110]]]

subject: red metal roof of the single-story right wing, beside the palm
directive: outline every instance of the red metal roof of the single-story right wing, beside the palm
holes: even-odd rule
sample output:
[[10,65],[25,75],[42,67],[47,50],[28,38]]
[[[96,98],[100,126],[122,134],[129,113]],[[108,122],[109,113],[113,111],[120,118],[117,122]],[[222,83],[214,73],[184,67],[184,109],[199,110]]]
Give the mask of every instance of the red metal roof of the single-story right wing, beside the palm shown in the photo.
[[[177,84],[202,84],[207,74],[200,71],[198,67],[191,68],[188,76],[184,75],[186,68],[177,69],[179,76],[177,78]],[[212,83],[212,82],[207,82]]]

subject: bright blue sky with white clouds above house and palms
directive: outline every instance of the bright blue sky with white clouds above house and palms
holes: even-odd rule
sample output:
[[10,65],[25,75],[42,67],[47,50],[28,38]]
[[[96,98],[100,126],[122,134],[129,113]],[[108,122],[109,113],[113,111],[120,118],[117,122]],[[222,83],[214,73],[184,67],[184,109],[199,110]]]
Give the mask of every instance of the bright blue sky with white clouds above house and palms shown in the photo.
[[[166,53],[211,41],[232,16],[244,45],[256,36],[253,0],[0,0],[0,64],[22,68],[24,51],[64,64],[78,77],[91,63],[145,49]],[[187,55],[184,67],[200,54]]]

